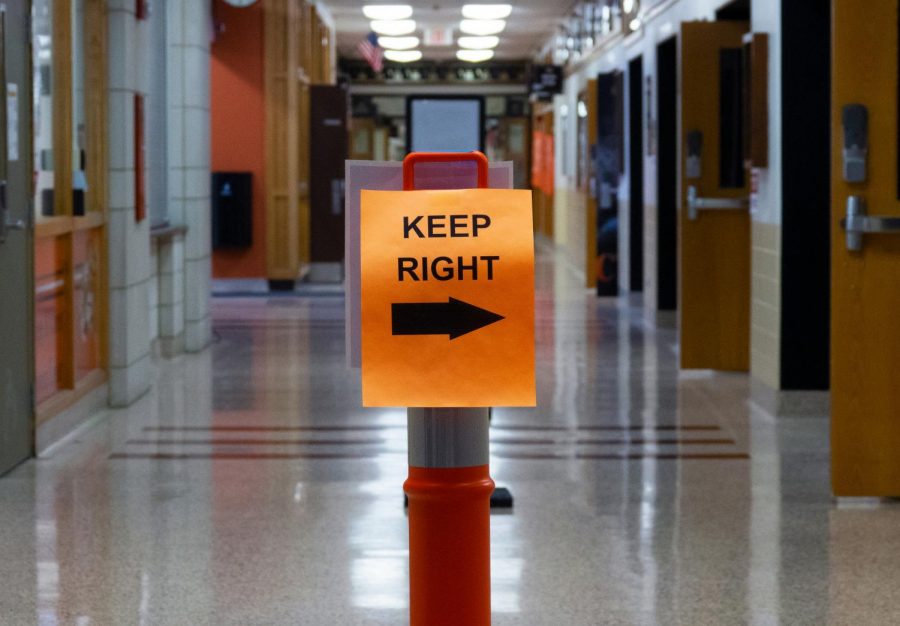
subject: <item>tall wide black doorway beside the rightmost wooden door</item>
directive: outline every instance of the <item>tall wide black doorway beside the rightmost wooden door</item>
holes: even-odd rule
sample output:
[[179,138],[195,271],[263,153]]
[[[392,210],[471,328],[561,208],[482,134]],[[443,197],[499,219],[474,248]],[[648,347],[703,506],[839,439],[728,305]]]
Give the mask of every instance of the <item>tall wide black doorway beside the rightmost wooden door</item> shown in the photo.
[[781,3],[782,389],[829,387],[830,4]]

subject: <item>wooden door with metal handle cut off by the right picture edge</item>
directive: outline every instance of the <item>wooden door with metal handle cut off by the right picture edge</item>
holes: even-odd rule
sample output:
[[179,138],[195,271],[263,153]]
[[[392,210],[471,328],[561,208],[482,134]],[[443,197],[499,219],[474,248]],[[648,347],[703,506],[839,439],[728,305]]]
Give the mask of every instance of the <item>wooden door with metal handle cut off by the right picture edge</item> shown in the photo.
[[[862,235],[849,251],[848,198],[900,216],[897,2],[833,5],[831,169],[831,481],[837,496],[900,496],[900,235]],[[845,105],[868,110],[864,182],[845,182]]]

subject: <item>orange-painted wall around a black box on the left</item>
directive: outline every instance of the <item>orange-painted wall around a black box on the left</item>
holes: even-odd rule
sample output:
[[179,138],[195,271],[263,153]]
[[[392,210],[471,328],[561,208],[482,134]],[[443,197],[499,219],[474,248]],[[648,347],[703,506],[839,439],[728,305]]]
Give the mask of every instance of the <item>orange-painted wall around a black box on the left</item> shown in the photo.
[[266,276],[265,85],[262,2],[215,0],[210,57],[213,171],[253,172],[253,246],[213,252],[214,278]]

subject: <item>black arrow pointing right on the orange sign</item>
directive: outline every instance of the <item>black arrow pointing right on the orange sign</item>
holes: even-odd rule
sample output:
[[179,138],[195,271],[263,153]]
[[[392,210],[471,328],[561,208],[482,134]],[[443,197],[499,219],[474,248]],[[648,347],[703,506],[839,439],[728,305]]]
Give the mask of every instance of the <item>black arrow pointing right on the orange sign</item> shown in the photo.
[[394,335],[450,335],[450,339],[456,339],[502,319],[502,315],[456,298],[391,304]]

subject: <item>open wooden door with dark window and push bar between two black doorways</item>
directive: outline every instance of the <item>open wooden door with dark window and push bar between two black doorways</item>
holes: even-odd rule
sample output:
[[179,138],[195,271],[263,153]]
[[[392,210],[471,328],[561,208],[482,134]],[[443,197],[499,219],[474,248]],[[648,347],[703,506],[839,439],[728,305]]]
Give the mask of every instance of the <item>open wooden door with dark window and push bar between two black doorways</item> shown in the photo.
[[[744,208],[700,211],[691,219],[687,210],[691,187],[705,198],[748,195],[739,122],[747,29],[745,22],[681,26],[679,324],[685,369],[750,368],[750,216]],[[692,162],[698,141],[699,159]]]

